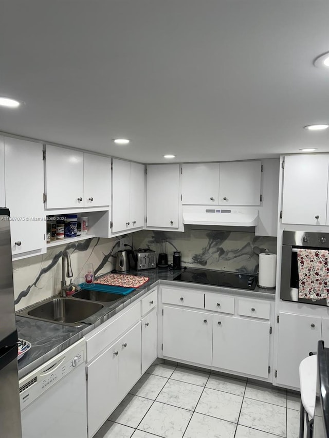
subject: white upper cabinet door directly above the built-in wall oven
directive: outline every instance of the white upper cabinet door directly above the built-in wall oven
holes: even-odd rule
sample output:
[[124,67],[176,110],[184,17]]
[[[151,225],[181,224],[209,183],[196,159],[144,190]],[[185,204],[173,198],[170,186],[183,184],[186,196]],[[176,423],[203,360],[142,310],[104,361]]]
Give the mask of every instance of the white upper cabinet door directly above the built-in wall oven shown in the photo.
[[329,155],[285,157],[282,223],[326,224],[328,168]]

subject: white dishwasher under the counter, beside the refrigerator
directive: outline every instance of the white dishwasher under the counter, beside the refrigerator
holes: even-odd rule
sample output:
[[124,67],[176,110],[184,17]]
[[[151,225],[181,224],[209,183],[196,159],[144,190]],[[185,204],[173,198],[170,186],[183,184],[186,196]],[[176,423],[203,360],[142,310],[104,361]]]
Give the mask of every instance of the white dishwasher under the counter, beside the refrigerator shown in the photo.
[[85,340],[20,380],[23,438],[87,438]]

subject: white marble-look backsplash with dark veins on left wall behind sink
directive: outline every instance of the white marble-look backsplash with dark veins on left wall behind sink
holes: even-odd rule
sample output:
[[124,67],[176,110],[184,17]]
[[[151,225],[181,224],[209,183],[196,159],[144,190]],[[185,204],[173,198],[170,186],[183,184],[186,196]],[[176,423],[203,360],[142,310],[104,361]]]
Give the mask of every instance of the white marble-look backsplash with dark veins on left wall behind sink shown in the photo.
[[[114,269],[115,254],[123,244],[132,244],[132,236],[111,239],[93,238],[54,246],[42,256],[29,257],[13,262],[15,310],[57,295],[62,277],[62,254],[68,250],[73,271],[72,281],[84,276],[86,263],[94,264],[95,275]],[[67,279],[69,282],[70,279]],[[82,281],[82,280],[81,280]]]

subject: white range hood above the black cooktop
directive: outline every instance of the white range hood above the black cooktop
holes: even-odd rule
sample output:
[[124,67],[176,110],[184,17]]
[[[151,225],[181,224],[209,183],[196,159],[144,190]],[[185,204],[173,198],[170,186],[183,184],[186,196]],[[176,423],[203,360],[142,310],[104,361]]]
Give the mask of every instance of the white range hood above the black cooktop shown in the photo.
[[258,210],[208,205],[184,205],[185,225],[257,226]]

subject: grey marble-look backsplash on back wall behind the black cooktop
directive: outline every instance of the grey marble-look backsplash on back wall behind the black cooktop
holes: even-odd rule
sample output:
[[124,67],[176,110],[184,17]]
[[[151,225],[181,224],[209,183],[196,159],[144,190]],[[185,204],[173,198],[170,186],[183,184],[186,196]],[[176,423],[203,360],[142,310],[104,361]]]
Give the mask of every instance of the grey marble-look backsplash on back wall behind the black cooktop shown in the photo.
[[134,233],[134,248],[149,248],[159,253],[160,240],[167,241],[168,262],[173,251],[181,252],[181,265],[218,271],[254,274],[258,255],[268,249],[277,252],[276,237],[255,236],[251,232],[195,230],[186,226],[184,233],[142,230]]

